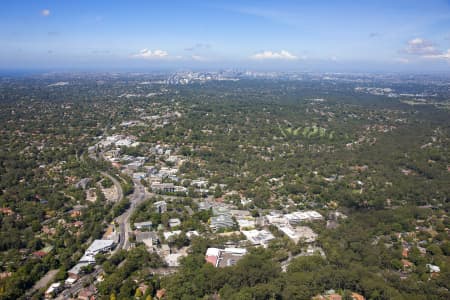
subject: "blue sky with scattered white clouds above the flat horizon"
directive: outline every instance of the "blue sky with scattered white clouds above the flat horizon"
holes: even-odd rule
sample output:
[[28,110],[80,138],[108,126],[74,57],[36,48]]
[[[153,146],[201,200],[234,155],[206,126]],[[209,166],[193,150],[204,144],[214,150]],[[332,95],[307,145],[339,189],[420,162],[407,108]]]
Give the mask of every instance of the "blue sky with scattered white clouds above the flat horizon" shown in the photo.
[[2,0],[0,69],[450,72],[449,0]]

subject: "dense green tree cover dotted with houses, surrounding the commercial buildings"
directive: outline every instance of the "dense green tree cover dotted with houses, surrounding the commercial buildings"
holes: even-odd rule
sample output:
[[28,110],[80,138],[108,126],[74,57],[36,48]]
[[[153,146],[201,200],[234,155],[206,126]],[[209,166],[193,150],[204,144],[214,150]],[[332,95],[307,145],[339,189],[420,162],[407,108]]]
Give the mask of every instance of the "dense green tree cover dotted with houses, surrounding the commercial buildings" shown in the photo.
[[[101,299],[146,299],[161,289],[166,299],[311,299],[330,289],[367,299],[450,298],[448,110],[359,93],[352,82],[171,86],[98,76],[69,76],[71,84],[60,87],[49,86],[52,77],[0,80],[0,299],[25,299],[49,270],[58,270],[55,281],[64,280],[89,242],[128,207],[127,198],[106,200],[102,191],[113,183],[101,172],[118,178],[125,194],[132,191],[131,179],[87,153],[100,136],[112,134],[134,137],[139,145],[122,153],[144,156],[152,165],[160,161],[149,149],[170,145],[184,159],[177,176],[185,186],[203,178],[211,197],[225,195],[254,216],[293,209],[328,216],[339,209],[347,218],[333,228],[310,224],[325,256],[295,258],[286,272],[280,262],[304,245],[276,228],[267,249],[252,247],[235,266],[214,268],[205,263],[207,247],[236,237],[209,230],[211,213],[193,204],[202,195],[190,189],[161,215],[152,211],[160,199],[151,198],[132,222],[167,226],[178,217],[183,232],[197,230],[201,237],[171,243],[190,250],[168,276],[152,273],[165,263],[139,243],[103,257]],[[155,115],[160,119],[149,117]],[[170,117],[159,117],[165,115]],[[121,125],[130,120],[140,123]],[[91,179],[87,189],[95,191],[95,201],[77,185],[83,178]],[[181,212],[186,206],[195,213]],[[439,266],[439,274],[431,274],[429,264]],[[150,287],[145,295],[136,290],[141,283]],[[34,295],[41,296],[42,290]]]

